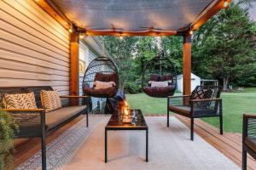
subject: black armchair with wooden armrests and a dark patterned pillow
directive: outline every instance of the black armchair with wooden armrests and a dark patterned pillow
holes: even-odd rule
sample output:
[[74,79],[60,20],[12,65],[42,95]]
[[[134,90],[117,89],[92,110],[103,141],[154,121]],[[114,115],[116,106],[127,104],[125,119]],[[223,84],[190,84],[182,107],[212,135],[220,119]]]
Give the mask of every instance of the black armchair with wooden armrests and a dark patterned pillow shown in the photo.
[[191,95],[170,96],[167,98],[167,127],[170,111],[191,119],[190,139],[194,139],[194,119],[219,117],[220,133],[223,134],[222,99],[219,86],[197,86]]

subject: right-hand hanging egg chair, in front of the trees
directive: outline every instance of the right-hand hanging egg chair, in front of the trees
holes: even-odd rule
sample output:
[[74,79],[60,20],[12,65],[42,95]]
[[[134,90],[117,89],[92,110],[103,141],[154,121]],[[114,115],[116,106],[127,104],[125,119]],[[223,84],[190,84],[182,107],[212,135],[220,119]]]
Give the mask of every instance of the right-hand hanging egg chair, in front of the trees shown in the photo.
[[149,60],[143,69],[143,92],[154,98],[172,96],[177,86],[177,72],[164,54]]

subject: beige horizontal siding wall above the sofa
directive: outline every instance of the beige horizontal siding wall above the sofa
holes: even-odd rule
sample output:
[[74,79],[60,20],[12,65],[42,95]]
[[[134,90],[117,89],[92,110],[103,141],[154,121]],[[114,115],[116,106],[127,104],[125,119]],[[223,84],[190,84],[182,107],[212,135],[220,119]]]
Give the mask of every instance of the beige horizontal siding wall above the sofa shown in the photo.
[[33,0],[0,1],[0,86],[69,94],[69,33]]

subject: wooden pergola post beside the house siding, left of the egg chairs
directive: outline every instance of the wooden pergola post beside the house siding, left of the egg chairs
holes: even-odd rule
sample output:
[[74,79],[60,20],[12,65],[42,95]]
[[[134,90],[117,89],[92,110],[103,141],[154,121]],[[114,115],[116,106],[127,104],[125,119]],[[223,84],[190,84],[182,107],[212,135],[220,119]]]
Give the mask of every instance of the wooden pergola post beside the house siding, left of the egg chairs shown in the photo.
[[[70,94],[79,95],[79,33],[71,34],[70,42]],[[78,99],[72,99],[71,105],[78,105]]]

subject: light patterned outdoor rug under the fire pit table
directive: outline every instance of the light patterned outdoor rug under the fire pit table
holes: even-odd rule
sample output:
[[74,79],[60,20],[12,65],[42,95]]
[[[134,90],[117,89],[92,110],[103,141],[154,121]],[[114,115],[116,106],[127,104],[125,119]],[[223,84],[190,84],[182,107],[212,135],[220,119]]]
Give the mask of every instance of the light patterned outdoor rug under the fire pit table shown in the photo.
[[[108,163],[104,162],[104,127],[109,116],[90,116],[90,127],[81,120],[47,145],[48,169],[65,170],[236,170],[233,161],[171,116],[146,116],[148,162],[144,131],[108,131]],[[16,169],[41,169],[41,153]]]

